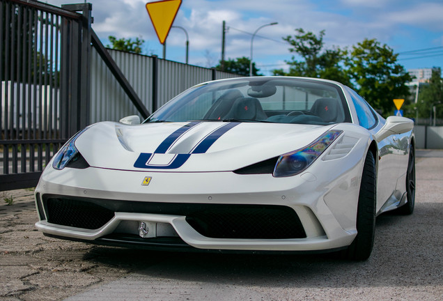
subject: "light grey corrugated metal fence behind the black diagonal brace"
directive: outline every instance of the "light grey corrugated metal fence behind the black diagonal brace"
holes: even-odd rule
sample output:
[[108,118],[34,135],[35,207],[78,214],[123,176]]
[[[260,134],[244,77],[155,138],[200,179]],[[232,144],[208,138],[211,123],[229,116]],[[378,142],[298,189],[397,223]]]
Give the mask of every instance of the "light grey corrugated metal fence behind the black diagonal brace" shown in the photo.
[[[107,49],[148,111],[153,112],[187,88],[213,79],[240,77],[228,72]],[[92,52],[91,123],[139,114],[98,52]]]

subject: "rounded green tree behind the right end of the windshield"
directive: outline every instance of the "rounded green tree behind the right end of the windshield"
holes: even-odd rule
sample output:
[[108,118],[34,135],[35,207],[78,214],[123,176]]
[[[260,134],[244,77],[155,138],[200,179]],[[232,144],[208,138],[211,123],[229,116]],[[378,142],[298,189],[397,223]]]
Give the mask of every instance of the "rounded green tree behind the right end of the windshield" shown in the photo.
[[392,100],[410,95],[405,83],[410,82],[411,77],[403,65],[397,63],[397,56],[386,44],[365,39],[352,46],[346,61],[359,94],[375,109],[381,109],[385,116],[394,112]]

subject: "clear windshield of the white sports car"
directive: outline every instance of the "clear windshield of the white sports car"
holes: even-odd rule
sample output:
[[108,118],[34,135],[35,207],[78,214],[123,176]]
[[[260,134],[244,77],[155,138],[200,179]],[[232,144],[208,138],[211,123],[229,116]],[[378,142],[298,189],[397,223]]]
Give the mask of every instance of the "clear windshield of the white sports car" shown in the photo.
[[328,125],[350,122],[341,88],[314,79],[255,77],[194,86],[145,123],[240,121]]

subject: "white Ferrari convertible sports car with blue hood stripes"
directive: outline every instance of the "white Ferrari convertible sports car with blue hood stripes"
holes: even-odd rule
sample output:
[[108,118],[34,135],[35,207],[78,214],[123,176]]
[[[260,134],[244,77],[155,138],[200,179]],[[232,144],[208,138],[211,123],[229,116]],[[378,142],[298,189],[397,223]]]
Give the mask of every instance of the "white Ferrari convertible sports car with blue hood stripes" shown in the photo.
[[36,226],[99,245],[364,260],[375,217],[414,209],[412,128],[337,82],[206,82],[141,124],[75,134],[42,173]]

